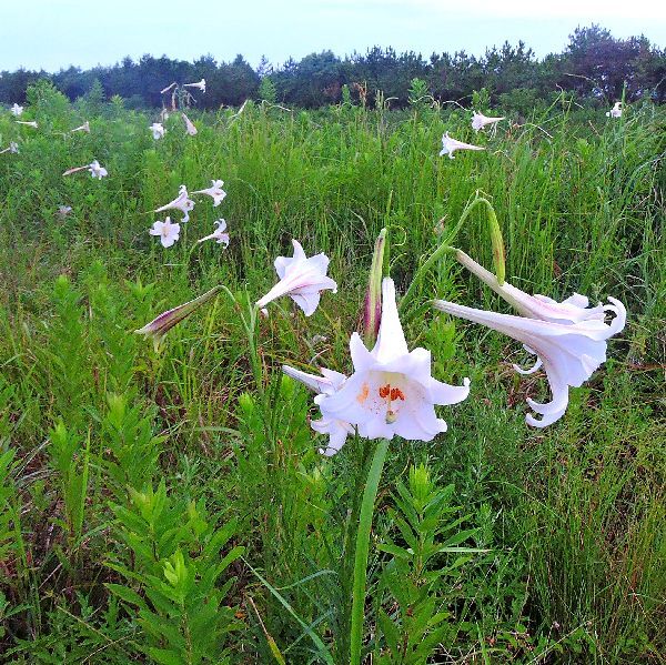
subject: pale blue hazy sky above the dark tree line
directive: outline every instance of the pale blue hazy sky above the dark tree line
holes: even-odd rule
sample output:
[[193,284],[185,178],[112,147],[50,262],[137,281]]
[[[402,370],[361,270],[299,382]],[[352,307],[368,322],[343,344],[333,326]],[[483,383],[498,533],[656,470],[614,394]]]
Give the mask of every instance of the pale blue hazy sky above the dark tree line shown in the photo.
[[428,57],[523,39],[537,56],[559,52],[576,26],[615,37],[644,33],[666,46],[659,0],[0,0],[0,70],[112,64],[143,53],[192,60],[242,53],[256,66],[323,49],[339,56],[392,46]]

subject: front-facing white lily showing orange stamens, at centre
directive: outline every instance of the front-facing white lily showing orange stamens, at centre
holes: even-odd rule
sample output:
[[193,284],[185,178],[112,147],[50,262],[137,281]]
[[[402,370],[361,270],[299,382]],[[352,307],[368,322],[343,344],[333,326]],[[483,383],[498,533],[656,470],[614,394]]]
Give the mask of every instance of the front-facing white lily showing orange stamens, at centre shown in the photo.
[[435,414],[435,404],[456,404],[470,394],[470,380],[462,386],[442,383],[431,375],[431,353],[408,351],[395,304],[391,278],[382,282],[382,322],[377,342],[369,351],[359,333],[350,340],[354,373],[324,399],[316,399],[325,419],[345,421],[369,439],[432,441],[446,431]]

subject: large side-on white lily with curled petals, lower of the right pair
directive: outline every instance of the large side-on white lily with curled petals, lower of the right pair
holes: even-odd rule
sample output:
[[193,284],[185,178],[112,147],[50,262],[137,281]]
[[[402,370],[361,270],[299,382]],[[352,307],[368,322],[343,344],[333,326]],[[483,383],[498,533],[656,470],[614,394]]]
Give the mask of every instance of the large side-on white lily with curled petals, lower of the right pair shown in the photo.
[[433,304],[447,314],[504,333],[522,342],[527,351],[536,354],[536,363],[529,370],[523,370],[517,365],[514,365],[514,369],[521,374],[532,374],[543,365],[553,399],[546,404],[527,399],[527,404],[542,417],[536,419],[527,414],[525,422],[534,427],[545,427],[564,415],[568,405],[569,386],[583,385],[606,361],[606,340],[625,326],[627,313],[624,305],[614,298],[608,300],[612,304],[604,305],[604,312],[615,314],[609,324],[596,318],[576,323],[553,323],[475,310],[443,300],[436,300]]

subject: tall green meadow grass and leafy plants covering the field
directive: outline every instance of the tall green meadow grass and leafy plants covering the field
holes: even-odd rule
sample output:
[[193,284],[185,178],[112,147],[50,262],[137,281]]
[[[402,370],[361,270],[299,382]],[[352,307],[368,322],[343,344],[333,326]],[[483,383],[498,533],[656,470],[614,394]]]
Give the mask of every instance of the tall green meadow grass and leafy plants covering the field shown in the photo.
[[[359,488],[373,449],[325,459],[303,386],[280,366],[349,372],[375,238],[398,293],[482,192],[507,278],[627,306],[609,360],[548,429],[524,423],[543,375],[518,345],[426,306],[508,311],[443,258],[402,313],[433,375],[472,380],[434,442],[394,440],[379,486],[363,644],[373,663],[659,663],[666,653],[666,114],[563,99],[474,135],[462,111],[248,104],[153,141],[118,101],[43,88],[0,117],[0,652],[16,663],[349,663]],[[90,120],[91,133],[67,134]],[[442,133],[485,152],[437,155]],[[109,178],[68,168],[98,159]],[[149,214],[198,199],[163,249]],[[57,214],[68,204],[72,213]],[[173,215],[173,218],[178,216]],[[223,216],[231,244],[195,241]],[[287,299],[249,331],[296,238],[337,294]],[[455,244],[492,266],[485,213]],[[132,334],[224,284],[161,352]],[[406,546],[411,550],[407,552]],[[440,550],[426,555],[426,545]],[[371,659],[372,658],[372,659]]]

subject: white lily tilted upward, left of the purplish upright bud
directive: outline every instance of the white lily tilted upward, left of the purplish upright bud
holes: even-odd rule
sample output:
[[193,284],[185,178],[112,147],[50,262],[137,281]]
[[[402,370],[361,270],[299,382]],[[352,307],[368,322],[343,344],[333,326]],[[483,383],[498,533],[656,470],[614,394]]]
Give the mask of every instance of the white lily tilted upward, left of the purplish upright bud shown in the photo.
[[256,301],[258,308],[264,308],[281,295],[289,295],[310,316],[316,310],[321,292],[331,290],[337,292],[337,284],[326,276],[329,256],[316,254],[305,256],[305,252],[297,240],[292,240],[294,255],[278,256],[275,271],[280,281],[261,299]]

